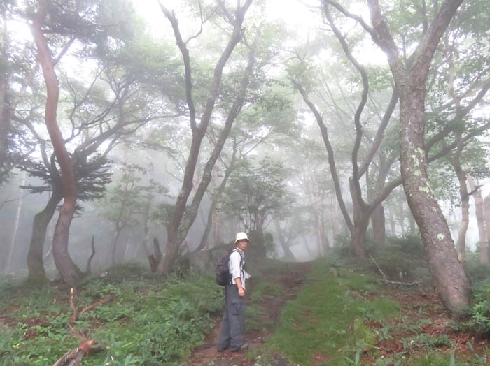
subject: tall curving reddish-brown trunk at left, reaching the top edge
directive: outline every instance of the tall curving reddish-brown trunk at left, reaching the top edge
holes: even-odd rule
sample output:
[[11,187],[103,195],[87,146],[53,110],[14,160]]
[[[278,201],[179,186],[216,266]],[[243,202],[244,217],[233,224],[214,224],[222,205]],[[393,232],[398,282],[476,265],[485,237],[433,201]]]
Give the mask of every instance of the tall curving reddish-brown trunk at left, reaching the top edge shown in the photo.
[[59,213],[59,219],[55,227],[55,235],[52,239],[52,255],[55,258],[56,268],[62,279],[74,286],[80,277],[80,270],[71,260],[68,252],[69,228],[76,205],[76,177],[73,161],[71,160],[59,126],[57,124],[57,105],[59,97],[59,85],[55,73],[55,63],[51,58],[48,40],[43,34],[41,24],[47,15],[46,1],[38,0],[38,11],[32,20],[32,34],[37,47],[37,55],[43,77],[45,80],[47,98],[45,106],[45,124],[55,150],[56,158],[61,168],[61,178],[64,193],[64,201]]

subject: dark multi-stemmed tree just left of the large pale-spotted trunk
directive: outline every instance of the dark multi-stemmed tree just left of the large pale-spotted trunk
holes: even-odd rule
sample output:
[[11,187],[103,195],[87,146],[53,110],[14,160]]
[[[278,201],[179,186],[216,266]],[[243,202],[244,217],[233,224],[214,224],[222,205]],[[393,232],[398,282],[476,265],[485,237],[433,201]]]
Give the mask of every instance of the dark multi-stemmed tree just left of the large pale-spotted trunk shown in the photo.
[[[364,237],[367,230],[367,226],[370,222],[370,217],[372,216],[374,210],[379,207],[381,202],[393,191],[393,189],[401,184],[400,177],[394,177],[390,182],[386,183],[386,178],[390,173],[391,166],[395,161],[395,154],[397,150],[391,149],[390,151],[379,151],[381,142],[384,141],[386,135],[386,129],[388,127],[388,123],[391,121],[391,117],[393,115],[393,111],[395,110],[395,106],[398,103],[398,93],[392,89],[388,92],[391,93],[391,99],[388,101],[387,105],[384,106],[384,114],[378,114],[378,123],[374,127],[373,136],[366,136],[366,129],[363,126],[363,122],[361,121],[361,117],[363,115],[363,111],[367,105],[367,98],[370,96],[372,100],[372,95],[370,95],[369,91],[369,80],[367,76],[367,72],[365,68],[353,57],[351,52],[351,47],[346,42],[345,37],[342,35],[342,32],[336,27],[335,22],[332,19],[332,15],[330,14],[330,10],[328,6],[325,6],[323,9],[325,16],[328,19],[328,24],[334,31],[334,34],[337,36],[339,43],[342,45],[342,49],[344,50],[344,54],[346,54],[347,59],[353,65],[355,70],[359,73],[360,79],[362,80],[362,89],[360,90],[360,101],[356,105],[355,110],[353,111],[353,116],[350,117],[355,127],[356,135],[353,138],[353,145],[351,147],[351,159],[350,163],[352,166],[351,177],[349,177],[349,191],[351,193],[352,203],[353,203],[353,217],[351,216],[346,208],[346,204],[344,203],[344,198],[342,197],[342,189],[341,183],[339,179],[339,171],[337,168],[338,159],[335,158],[334,148],[332,146],[332,142],[330,140],[329,131],[327,124],[325,124],[324,117],[321,115],[320,110],[316,107],[311,98],[309,97],[309,91],[304,87],[307,85],[309,89],[311,89],[311,81],[313,80],[311,75],[312,71],[309,68],[303,57],[298,54],[298,59],[300,59],[300,64],[292,66],[290,68],[290,80],[293,83],[295,89],[300,92],[304,103],[307,104],[311,112],[313,112],[316,122],[321,130],[321,136],[323,137],[323,142],[328,152],[328,163],[330,166],[330,174],[332,176],[332,180],[334,182],[335,187],[335,195],[337,196],[337,202],[339,203],[340,210],[342,215],[344,216],[344,220],[346,222],[347,228],[349,228],[349,232],[351,233],[351,251],[356,254],[358,257],[364,257],[366,255],[365,247],[364,247]],[[325,78],[323,78],[325,80]],[[339,106],[337,101],[332,97],[332,93],[330,91],[330,86],[328,82],[323,81],[323,90],[325,93],[329,94],[328,97],[323,97],[323,101],[327,98],[331,98],[332,101],[330,105],[333,107],[332,113],[329,116],[338,116],[339,120],[342,121],[342,115],[349,113],[342,110],[339,110]],[[320,89],[320,88],[319,88]],[[325,103],[325,102],[324,102]],[[326,102],[325,104],[329,104]],[[377,109],[377,106],[374,105],[374,110]],[[342,114],[342,115],[341,115]],[[334,117],[330,117],[329,119],[333,119]],[[365,154],[362,158],[360,158],[361,152],[361,143],[363,140],[368,140],[369,144],[365,148]],[[386,144],[385,144],[386,145]],[[374,177],[374,170],[371,173],[371,180],[367,179],[368,184],[374,185],[375,189],[370,190],[370,195],[368,195],[369,202],[366,202],[363,198],[363,190],[361,189],[361,180],[363,175],[367,175],[369,173],[369,169],[371,166],[374,166],[373,159],[375,155],[379,155],[379,168],[376,175],[376,180],[374,183],[371,182]],[[385,156],[387,156],[385,158]],[[373,169],[373,168],[371,168]]]

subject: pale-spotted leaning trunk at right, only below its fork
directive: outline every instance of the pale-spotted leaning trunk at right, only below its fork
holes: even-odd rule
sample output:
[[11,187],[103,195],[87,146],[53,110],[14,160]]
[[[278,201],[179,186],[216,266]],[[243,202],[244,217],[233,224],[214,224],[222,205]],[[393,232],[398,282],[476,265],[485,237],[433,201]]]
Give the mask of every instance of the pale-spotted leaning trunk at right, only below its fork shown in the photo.
[[401,98],[401,170],[410,210],[426,247],[430,271],[444,304],[454,313],[470,305],[471,286],[454,250],[447,221],[430,189],[423,149],[425,88]]

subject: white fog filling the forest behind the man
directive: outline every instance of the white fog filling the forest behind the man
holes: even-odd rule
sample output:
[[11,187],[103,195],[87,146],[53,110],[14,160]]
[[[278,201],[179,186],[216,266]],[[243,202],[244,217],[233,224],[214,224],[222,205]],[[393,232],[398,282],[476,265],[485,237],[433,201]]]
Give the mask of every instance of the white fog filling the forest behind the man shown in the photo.
[[[67,251],[81,271],[92,237],[95,272],[150,266],[154,238],[165,261],[221,248],[242,230],[257,235],[269,258],[311,261],[356,252],[356,235],[368,250],[420,237],[402,188],[400,103],[386,55],[358,22],[339,12],[328,19],[311,1],[235,5],[119,0],[53,8],[38,25],[29,4],[6,6],[1,273],[27,276],[34,216],[59,194],[65,199],[37,254],[48,278],[59,278],[52,244],[69,197],[66,169],[75,172],[77,205]],[[481,82],[489,50],[458,31],[472,29],[447,31],[454,54],[442,42],[428,75],[423,159],[437,158],[428,163],[429,188],[456,244],[469,197],[463,237],[475,251],[475,193],[490,191],[489,88]],[[418,44],[415,34],[397,37],[405,54]],[[44,44],[54,79],[38,53]],[[482,56],[464,61],[472,47]],[[462,66],[453,70],[450,57]],[[52,80],[56,101],[46,92]],[[50,138],[46,103],[63,140]],[[451,130],[462,111],[461,129]]]

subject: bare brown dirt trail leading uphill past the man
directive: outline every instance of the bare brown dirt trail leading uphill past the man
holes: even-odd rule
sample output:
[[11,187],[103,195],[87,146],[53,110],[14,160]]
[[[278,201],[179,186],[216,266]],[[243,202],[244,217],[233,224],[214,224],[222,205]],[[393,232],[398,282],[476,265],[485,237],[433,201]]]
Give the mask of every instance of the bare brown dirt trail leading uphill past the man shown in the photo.
[[[260,304],[262,309],[267,313],[267,319],[274,322],[274,328],[279,320],[279,314],[281,314],[283,305],[296,298],[297,292],[300,290],[305,277],[310,271],[311,262],[287,263],[281,271],[267,274],[269,280],[281,284],[283,288],[281,296],[264,295],[264,301]],[[253,293],[254,284],[255,282],[251,281],[249,293]],[[228,350],[218,352],[216,342],[220,331],[220,322],[221,317],[216,319],[213,331],[207,335],[205,343],[193,351],[192,357],[185,363],[186,366],[252,366],[255,364],[255,360],[246,358],[244,353],[231,352]],[[267,330],[265,328],[254,332],[246,332],[245,339],[249,344],[248,349],[253,350],[260,348],[271,332],[272,330]],[[278,359],[278,365],[287,365],[287,363],[284,360]]]

